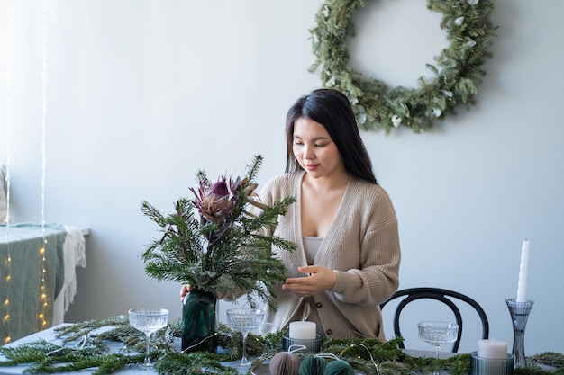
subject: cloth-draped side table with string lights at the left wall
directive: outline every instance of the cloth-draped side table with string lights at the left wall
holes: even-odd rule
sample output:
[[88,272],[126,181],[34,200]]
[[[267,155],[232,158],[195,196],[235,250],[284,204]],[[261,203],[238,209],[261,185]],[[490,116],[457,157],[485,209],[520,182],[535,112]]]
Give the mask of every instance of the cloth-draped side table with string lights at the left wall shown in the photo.
[[80,229],[61,224],[0,225],[0,344],[62,323],[86,266]]

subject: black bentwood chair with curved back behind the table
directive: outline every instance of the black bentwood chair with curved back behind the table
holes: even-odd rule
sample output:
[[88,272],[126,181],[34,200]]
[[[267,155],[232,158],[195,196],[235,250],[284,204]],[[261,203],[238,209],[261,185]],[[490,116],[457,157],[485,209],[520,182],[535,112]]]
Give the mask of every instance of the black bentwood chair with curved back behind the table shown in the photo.
[[[452,344],[452,352],[457,353],[459,350],[460,339],[462,337],[462,316],[460,314],[459,308],[452,299],[459,299],[459,301],[468,303],[468,305],[476,310],[478,316],[480,317],[480,320],[482,321],[482,338],[487,339],[489,337],[489,323],[487,322],[486,312],[476,300],[471,299],[464,294],[440,288],[410,288],[405,290],[397,290],[396,293],[394,293],[394,295],[390,297],[390,299],[380,305],[380,308],[384,308],[392,299],[398,299],[402,297],[404,297],[404,299],[399,301],[393,320],[394,333],[396,334],[396,336],[402,335],[399,328],[399,316],[402,313],[402,310],[405,308],[405,305],[416,299],[435,299],[446,304],[456,317],[456,323],[459,325],[459,335],[454,344]],[[401,348],[405,348],[404,343],[400,343],[399,346]]]

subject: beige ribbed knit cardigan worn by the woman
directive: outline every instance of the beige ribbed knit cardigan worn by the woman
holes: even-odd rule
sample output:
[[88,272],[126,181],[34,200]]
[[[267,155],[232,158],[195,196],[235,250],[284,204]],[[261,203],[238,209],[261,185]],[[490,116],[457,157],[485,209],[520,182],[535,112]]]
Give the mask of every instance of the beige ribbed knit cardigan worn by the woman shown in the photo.
[[[278,175],[259,193],[266,204],[288,195],[296,198],[275,231],[276,236],[297,245],[294,252],[274,249],[286,264],[288,277],[305,276],[297,272],[297,267],[307,264],[300,215],[304,174],[300,171]],[[385,340],[379,305],[397,290],[400,258],[396,211],[387,192],[376,184],[351,177],[314,259],[314,264],[338,275],[332,290],[313,297],[327,337]],[[277,311],[269,311],[265,321],[285,329],[301,318],[296,313],[305,299],[282,290],[281,285],[276,294]]]

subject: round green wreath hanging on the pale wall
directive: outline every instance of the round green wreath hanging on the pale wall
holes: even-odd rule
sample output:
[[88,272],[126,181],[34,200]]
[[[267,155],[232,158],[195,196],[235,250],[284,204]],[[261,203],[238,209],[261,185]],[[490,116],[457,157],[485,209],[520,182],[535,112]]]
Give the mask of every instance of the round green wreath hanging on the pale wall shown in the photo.
[[366,78],[348,67],[347,40],[354,36],[352,16],[366,0],[327,0],[315,15],[310,30],[315,62],[310,72],[320,71],[323,87],[349,97],[359,127],[364,130],[405,126],[415,133],[432,129],[436,119],[456,113],[459,104],[475,104],[478,83],[486,75],[484,64],[492,57],[496,36],[490,15],[491,0],[428,0],[427,8],[443,14],[441,29],[450,45],[426,64],[432,78],[420,77],[418,88],[396,86],[391,90],[376,78]]

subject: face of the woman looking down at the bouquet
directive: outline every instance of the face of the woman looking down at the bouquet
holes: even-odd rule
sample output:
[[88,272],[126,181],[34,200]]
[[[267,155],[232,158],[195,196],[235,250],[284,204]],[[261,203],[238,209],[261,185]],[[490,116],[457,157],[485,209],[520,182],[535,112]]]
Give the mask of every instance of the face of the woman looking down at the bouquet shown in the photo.
[[297,162],[314,178],[344,171],[337,146],[319,122],[306,117],[296,119],[293,150]]

